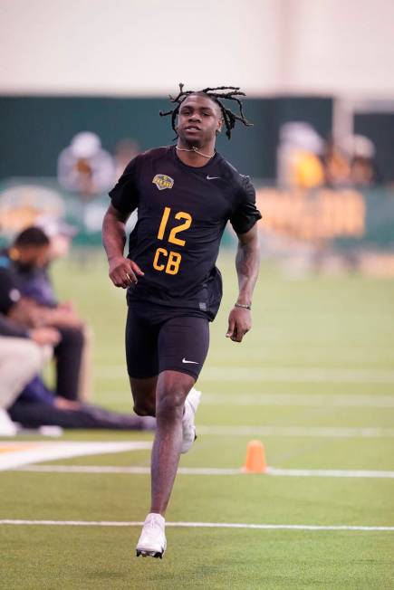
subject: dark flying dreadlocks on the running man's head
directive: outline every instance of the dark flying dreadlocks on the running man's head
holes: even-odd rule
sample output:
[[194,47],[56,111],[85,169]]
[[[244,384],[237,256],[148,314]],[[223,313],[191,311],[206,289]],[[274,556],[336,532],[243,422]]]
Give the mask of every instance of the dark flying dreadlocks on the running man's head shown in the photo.
[[[160,117],[166,117],[167,115],[171,115],[171,127],[174,129],[176,133],[176,139],[178,138],[178,131],[176,128],[176,121],[178,117],[178,112],[180,109],[180,105],[182,102],[189,96],[190,94],[205,94],[210,99],[214,100],[216,104],[219,106],[220,111],[222,113],[222,118],[225,123],[226,127],[226,136],[228,139],[231,138],[231,131],[235,128],[236,121],[241,121],[245,125],[245,127],[253,126],[253,123],[250,123],[247,119],[245,119],[242,102],[237,97],[238,96],[245,96],[245,92],[241,92],[239,86],[217,86],[216,88],[205,88],[203,90],[183,90],[184,84],[179,84],[179,93],[178,96],[175,98],[169,95],[169,100],[173,103],[176,103],[176,107],[174,109],[168,110],[167,112],[163,112],[162,110],[159,111]],[[217,90],[225,90],[223,92],[218,92]],[[226,109],[222,100],[234,100],[239,108],[239,115],[236,115],[231,109]]]

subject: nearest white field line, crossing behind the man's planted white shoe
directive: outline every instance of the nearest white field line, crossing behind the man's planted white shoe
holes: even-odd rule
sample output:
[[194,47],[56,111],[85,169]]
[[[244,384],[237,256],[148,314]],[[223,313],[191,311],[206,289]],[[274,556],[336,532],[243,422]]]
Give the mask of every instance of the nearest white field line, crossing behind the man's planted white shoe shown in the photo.
[[[117,520],[0,520],[0,525],[42,525],[49,527],[142,527],[143,524],[142,521],[136,520],[131,520],[130,522]],[[237,522],[166,522],[166,526],[174,528],[254,528],[261,530],[394,531],[394,527],[368,527],[359,525],[268,525]]]

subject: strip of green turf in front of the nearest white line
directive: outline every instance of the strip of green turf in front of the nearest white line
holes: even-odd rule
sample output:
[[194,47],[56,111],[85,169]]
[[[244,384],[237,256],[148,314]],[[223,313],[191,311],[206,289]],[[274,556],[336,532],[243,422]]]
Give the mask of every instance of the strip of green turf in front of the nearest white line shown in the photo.
[[6,527],[8,588],[389,589],[392,545],[374,533],[168,528],[163,560],[137,559],[137,528]]

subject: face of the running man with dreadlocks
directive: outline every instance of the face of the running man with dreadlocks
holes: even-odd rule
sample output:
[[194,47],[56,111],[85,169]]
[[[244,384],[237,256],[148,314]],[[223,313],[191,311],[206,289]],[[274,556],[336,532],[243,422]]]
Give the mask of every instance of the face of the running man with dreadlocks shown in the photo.
[[192,94],[180,105],[178,114],[178,136],[189,146],[203,147],[216,137],[222,128],[219,106],[206,96]]

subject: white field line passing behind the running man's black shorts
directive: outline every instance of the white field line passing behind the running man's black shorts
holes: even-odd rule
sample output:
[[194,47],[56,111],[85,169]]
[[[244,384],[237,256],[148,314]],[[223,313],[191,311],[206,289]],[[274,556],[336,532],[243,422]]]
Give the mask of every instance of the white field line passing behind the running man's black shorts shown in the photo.
[[[127,377],[122,365],[95,368],[97,378]],[[278,383],[394,383],[394,370],[336,367],[246,367],[207,366],[202,374],[208,381],[268,381]]]

